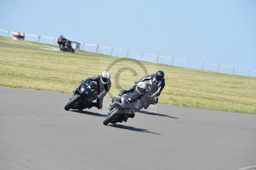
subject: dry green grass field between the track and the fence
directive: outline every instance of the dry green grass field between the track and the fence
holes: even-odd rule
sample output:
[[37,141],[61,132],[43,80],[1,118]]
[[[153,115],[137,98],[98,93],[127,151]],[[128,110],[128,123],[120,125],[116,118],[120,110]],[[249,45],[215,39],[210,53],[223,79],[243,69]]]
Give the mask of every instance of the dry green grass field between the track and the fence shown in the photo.
[[[40,48],[39,43],[14,41],[0,37],[0,42]],[[99,75],[116,59],[110,56],[84,55],[0,45],[0,85],[18,88],[72,93],[79,81]],[[148,73],[163,70],[165,88],[161,104],[256,114],[256,78],[142,62]],[[128,68],[127,68],[128,67]],[[126,70],[128,69],[128,70]],[[138,73],[133,75],[129,69]],[[126,70],[126,71],[123,71]],[[111,94],[130,87],[145,76],[132,60],[110,69]],[[118,78],[120,74],[120,78]],[[120,84],[118,83],[120,82]],[[110,94],[107,97],[111,97]]]

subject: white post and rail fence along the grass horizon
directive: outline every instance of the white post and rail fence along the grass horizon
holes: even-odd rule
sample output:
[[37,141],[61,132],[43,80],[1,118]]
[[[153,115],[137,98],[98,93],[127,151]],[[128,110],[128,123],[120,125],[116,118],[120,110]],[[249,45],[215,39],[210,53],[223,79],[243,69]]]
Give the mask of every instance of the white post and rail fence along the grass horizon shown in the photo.
[[[7,30],[1,30],[0,32],[6,32],[7,33],[7,37],[10,36],[10,33],[12,33],[13,35],[15,35],[16,33],[19,32],[13,32],[13,31],[7,31]],[[52,44],[54,45],[55,40],[57,40],[58,38],[55,37],[48,37],[48,36],[42,36],[42,35],[32,35],[32,34],[24,34],[24,33],[20,33],[21,35],[23,35],[23,40],[24,38],[26,38],[26,36],[32,36],[35,37],[36,40],[34,42],[40,43],[41,38],[45,38],[45,39],[51,39],[52,40]],[[22,37],[20,35],[20,37]],[[19,36],[19,34],[18,34]],[[16,37],[18,37],[16,35]],[[124,50],[124,49],[118,49],[118,48],[113,48],[113,47],[106,47],[106,46],[100,46],[97,44],[89,44],[89,43],[80,43],[82,45],[82,50],[84,50],[84,46],[93,46],[95,47],[95,51],[91,51],[91,52],[95,52],[95,53],[99,53],[99,54],[103,54],[100,49],[109,49],[109,55],[112,56],[113,51],[124,51],[125,57],[128,57],[129,54],[139,54],[140,55],[140,61],[146,61],[146,60],[142,60],[143,56],[152,56],[152,57],[156,57],[156,64],[158,64],[158,59],[159,58],[168,58],[170,59],[170,66],[174,66],[174,60],[179,60],[179,61],[184,61],[186,62],[186,67],[185,68],[189,68],[189,63],[197,63],[201,65],[201,68],[198,70],[204,70],[204,66],[208,65],[208,66],[215,66],[216,67],[216,72],[220,73],[220,67],[222,68],[229,68],[232,70],[232,74],[235,74],[235,70],[242,70],[242,71],[247,71],[248,76],[250,76],[251,72],[256,72],[256,70],[251,70],[251,69],[243,69],[243,68],[238,68],[238,67],[231,67],[231,66],[221,66],[221,65],[217,65],[217,64],[210,64],[210,63],[204,63],[204,62],[198,62],[198,61],[193,61],[193,60],[187,60],[187,59],[181,59],[181,58],[174,58],[174,57],[167,57],[167,56],[161,56],[161,55],[156,55],[156,54],[149,54],[149,53],[144,53],[144,52],[138,52],[138,51],[131,51],[131,50]],[[80,47],[80,46],[79,46]],[[107,54],[108,55],[108,54]]]

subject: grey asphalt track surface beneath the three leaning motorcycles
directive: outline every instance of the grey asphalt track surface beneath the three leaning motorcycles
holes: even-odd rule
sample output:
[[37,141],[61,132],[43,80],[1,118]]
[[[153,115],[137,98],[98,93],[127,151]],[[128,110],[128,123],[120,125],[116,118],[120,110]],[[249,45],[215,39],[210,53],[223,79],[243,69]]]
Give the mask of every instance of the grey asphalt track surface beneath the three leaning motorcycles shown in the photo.
[[[104,126],[70,94],[0,87],[0,169],[237,170],[256,165],[256,115],[170,105]],[[104,99],[108,107],[110,99]],[[155,110],[154,110],[155,109]]]

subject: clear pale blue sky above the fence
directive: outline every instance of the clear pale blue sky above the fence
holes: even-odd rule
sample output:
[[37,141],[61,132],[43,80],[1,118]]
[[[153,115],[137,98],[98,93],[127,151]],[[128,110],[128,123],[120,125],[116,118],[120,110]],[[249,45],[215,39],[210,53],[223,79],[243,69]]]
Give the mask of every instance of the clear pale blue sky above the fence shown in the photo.
[[0,29],[254,70],[255,20],[254,0],[1,0],[0,7]]

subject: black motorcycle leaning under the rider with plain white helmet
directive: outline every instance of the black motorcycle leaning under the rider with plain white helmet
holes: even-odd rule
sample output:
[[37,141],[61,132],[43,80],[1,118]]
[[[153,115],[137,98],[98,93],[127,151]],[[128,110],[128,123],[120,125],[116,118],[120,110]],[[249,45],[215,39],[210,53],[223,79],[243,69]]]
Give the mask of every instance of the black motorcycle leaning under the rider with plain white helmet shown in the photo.
[[95,81],[86,81],[81,83],[74,92],[74,95],[69,99],[64,109],[83,110],[87,108],[93,101],[93,98],[98,95],[98,87]]

